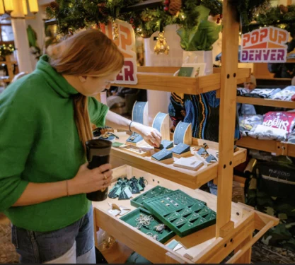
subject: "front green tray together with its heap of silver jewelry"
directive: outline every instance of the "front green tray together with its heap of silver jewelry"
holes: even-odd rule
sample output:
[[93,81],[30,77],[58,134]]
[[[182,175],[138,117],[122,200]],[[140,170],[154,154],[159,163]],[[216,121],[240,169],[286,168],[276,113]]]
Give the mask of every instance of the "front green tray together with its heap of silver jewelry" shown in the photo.
[[161,243],[167,242],[175,235],[161,220],[143,208],[137,208],[120,219]]

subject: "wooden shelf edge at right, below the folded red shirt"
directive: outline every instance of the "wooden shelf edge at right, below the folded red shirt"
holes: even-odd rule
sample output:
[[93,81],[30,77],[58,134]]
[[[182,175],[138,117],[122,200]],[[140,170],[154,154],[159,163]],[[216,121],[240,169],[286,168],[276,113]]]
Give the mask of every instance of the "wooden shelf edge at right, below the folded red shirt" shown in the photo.
[[276,153],[277,155],[288,155],[295,158],[295,144],[284,141],[258,140],[252,137],[243,137],[237,141],[237,146],[255,150]]

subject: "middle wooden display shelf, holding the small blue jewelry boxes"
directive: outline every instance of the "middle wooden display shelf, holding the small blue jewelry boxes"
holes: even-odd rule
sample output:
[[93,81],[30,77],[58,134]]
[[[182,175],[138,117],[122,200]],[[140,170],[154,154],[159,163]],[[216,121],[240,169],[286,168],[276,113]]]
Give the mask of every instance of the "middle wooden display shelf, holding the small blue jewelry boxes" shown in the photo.
[[[128,135],[120,136],[120,139],[116,141],[125,143],[128,137]],[[194,146],[202,146],[203,143],[207,143],[209,146],[208,153],[212,153],[214,155],[214,153],[218,151],[219,143],[195,138],[192,139],[192,148]],[[139,147],[142,146],[146,146],[146,143],[141,144]],[[153,153],[154,151],[151,151],[151,155]],[[237,148],[233,158],[233,166],[243,163],[246,159],[246,150],[243,148]],[[177,158],[173,159],[175,160]],[[115,167],[122,164],[139,167],[151,174],[159,175],[165,179],[170,179],[173,182],[183,184],[184,186],[192,189],[197,189],[217,177],[219,163],[204,165],[199,170],[193,171],[175,167],[172,163],[170,165],[166,165],[156,160],[151,160],[151,156],[142,157],[140,155],[124,151],[122,148],[112,148],[111,164]]]

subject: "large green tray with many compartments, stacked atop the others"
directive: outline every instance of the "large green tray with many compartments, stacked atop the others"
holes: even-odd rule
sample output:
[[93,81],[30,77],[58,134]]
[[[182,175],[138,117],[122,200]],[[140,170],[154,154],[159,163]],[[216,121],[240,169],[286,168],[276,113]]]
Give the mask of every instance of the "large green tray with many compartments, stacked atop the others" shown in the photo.
[[216,213],[179,189],[144,201],[144,207],[176,235],[185,237],[216,223]]

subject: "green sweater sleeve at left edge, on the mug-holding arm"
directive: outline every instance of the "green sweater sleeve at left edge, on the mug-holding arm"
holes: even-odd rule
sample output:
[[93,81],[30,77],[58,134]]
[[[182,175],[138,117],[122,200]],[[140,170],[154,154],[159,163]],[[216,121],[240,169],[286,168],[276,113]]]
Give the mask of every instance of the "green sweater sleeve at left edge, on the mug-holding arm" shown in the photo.
[[0,98],[0,212],[15,204],[28,185],[22,173],[37,134],[33,100],[6,97],[6,91],[3,94]]

